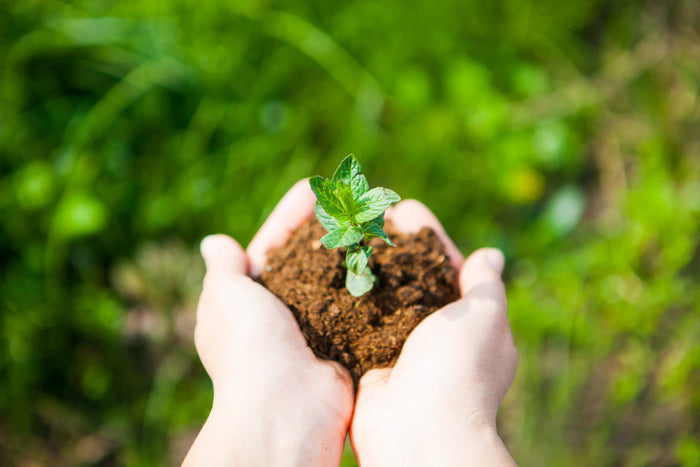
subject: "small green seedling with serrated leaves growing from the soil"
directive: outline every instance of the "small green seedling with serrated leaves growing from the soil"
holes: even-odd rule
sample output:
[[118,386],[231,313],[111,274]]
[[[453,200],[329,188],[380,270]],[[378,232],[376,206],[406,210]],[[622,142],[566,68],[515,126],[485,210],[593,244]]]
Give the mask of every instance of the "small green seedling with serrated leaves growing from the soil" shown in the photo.
[[310,180],[316,193],[316,217],[328,233],[321,238],[326,248],[345,247],[345,287],[354,297],[372,290],[377,278],[370,270],[374,249],[367,240],[378,237],[394,245],[384,232],[384,211],[401,200],[388,188],[372,188],[353,155],[340,163],[330,179],[315,176]]

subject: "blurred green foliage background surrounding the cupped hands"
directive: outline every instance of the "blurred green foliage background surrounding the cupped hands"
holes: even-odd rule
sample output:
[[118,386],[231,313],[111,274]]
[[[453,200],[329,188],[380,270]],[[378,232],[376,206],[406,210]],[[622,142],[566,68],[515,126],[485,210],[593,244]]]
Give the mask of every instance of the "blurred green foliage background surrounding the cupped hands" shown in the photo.
[[198,241],[354,153],[506,253],[516,460],[700,465],[699,12],[0,0],[3,464],[179,462]]

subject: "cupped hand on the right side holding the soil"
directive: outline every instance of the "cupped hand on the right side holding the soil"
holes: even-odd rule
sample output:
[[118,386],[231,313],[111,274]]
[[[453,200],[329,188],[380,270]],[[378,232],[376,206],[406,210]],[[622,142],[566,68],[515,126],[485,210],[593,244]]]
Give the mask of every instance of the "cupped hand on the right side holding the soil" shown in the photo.
[[[390,214],[400,230],[439,227],[416,202]],[[444,230],[436,231],[449,252]],[[462,298],[418,325],[393,369],[360,380],[351,426],[360,465],[515,465],[496,432],[518,364],[503,264],[498,250],[473,253],[460,269]]]

